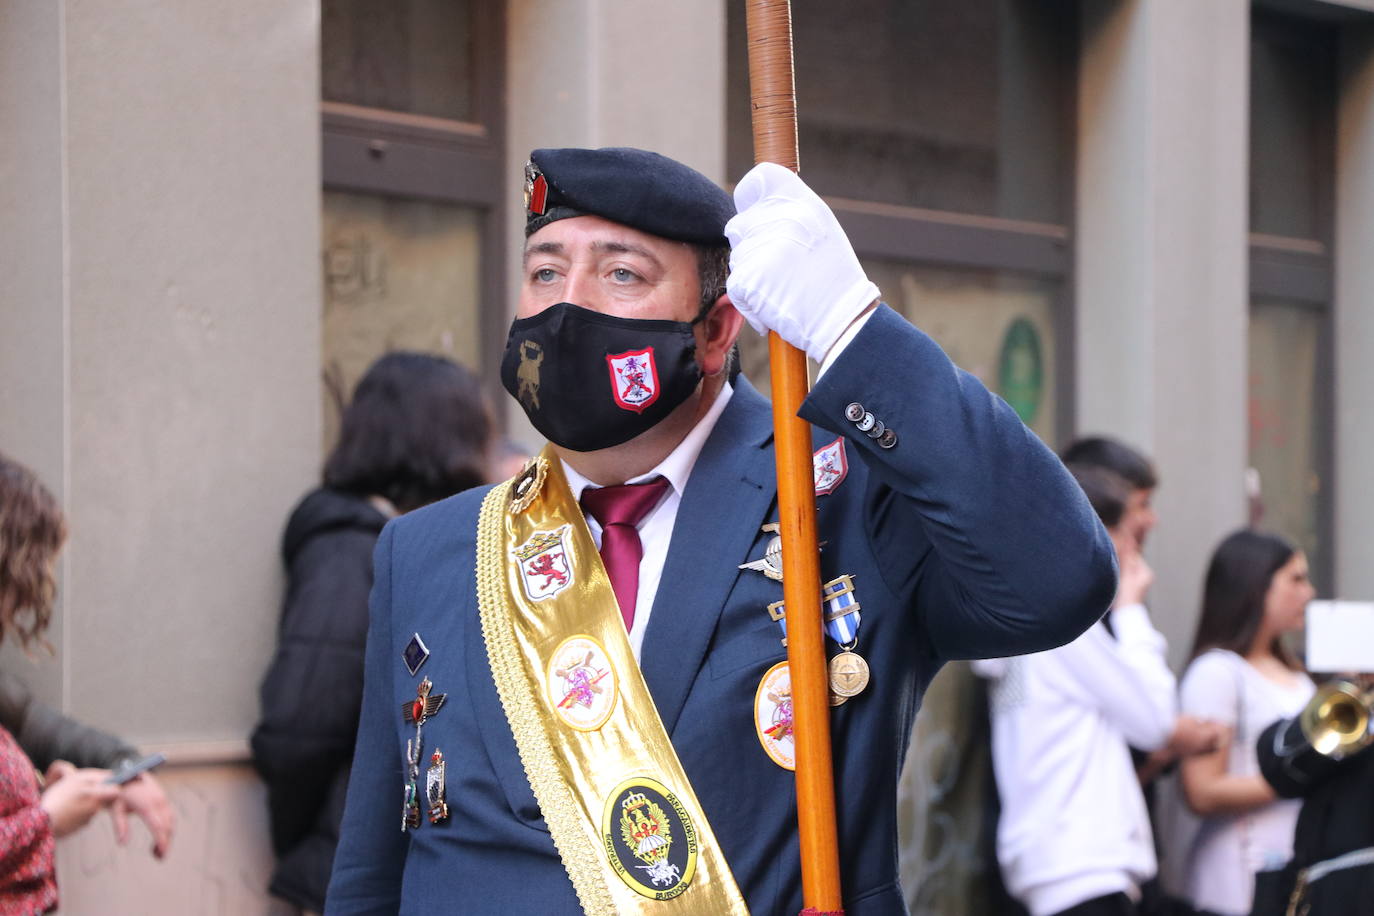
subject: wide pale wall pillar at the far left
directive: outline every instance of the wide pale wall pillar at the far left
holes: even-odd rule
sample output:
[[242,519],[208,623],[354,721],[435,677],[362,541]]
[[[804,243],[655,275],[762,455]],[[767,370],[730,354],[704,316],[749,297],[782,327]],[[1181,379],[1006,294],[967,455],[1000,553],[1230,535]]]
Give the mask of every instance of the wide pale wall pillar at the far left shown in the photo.
[[164,864],[103,824],[65,842],[63,908],[262,912],[245,739],[319,463],[319,5],[0,0],[0,448],[71,526],[58,656],[4,663],[166,750],[183,818]]

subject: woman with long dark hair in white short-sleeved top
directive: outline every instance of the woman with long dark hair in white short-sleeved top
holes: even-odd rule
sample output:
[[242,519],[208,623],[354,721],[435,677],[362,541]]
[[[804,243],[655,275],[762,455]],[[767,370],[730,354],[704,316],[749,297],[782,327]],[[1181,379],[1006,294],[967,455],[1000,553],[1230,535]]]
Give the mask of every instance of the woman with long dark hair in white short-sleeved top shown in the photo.
[[1201,912],[1245,916],[1254,875],[1293,854],[1298,803],[1281,801],[1260,775],[1256,739],[1296,715],[1314,685],[1283,636],[1303,626],[1314,589],[1307,558],[1274,534],[1235,531],[1212,555],[1182,710],[1230,729],[1210,754],[1183,761],[1187,805],[1201,821],[1187,897]]

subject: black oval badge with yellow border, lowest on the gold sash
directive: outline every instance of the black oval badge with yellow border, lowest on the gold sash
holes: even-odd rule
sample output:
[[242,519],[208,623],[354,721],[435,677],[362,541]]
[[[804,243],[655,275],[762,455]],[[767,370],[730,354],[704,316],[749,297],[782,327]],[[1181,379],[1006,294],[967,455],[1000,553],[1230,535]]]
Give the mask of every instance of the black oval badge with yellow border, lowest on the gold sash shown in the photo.
[[683,803],[647,776],[628,779],[606,799],[602,843],[631,890],[672,900],[697,872],[697,828]]

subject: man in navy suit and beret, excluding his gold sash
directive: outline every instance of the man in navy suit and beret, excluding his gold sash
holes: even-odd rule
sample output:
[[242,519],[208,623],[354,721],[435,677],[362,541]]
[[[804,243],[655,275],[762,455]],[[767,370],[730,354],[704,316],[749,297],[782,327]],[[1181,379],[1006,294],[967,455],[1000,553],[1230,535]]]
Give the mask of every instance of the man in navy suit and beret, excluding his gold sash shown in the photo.
[[[734,374],[732,349],[747,320],[820,363],[801,415],[822,578],[861,606],[827,645],[870,672],[831,717],[845,911],[904,915],[896,786],[926,685],[947,659],[1047,650],[1099,619],[1116,589],[1106,533],[1017,415],[878,302],[834,216],[786,169],[756,168],[732,203],[657,154],[537,150],[526,207],[503,380],[581,499],[662,728],[756,916],[798,912],[801,879],[775,740],[786,707],[760,714],[786,654],[769,611],[782,599],[771,409]],[[638,563],[617,578],[610,529],[625,523],[598,520],[596,492],[643,482]],[[378,544],[327,913],[581,912],[484,647],[482,499],[401,516]],[[558,588],[561,567],[544,573],[532,588]],[[425,753],[445,761],[437,823],[403,814],[419,736],[400,710],[422,681],[444,695],[415,706]]]

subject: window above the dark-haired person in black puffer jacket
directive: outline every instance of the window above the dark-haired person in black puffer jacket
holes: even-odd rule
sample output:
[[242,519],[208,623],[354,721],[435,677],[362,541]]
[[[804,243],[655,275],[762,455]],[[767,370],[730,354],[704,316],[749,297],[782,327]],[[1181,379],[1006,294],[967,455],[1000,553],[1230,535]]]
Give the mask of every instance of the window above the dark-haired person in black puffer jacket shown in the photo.
[[322,4],[326,449],[335,393],[387,350],[447,356],[496,387],[507,202],[500,8]]

